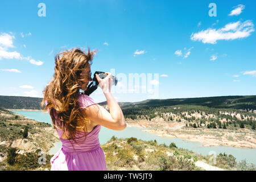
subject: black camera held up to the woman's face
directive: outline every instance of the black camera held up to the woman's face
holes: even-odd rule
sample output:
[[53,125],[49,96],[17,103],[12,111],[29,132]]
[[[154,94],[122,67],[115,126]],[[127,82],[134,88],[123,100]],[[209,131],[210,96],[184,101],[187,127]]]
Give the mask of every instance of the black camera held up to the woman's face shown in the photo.
[[[82,94],[85,94],[87,96],[89,96],[91,93],[93,93],[97,88],[98,88],[98,80],[96,78],[96,74],[101,78],[101,79],[104,79],[106,76],[105,72],[99,72],[99,71],[96,71],[94,74],[93,74],[93,80],[92,82],[90,82],[90,84],[87,86],[87,89],[82,92]],[[115,76],[112,76],[112,81],[115,85],[117,85],[117,77]]]

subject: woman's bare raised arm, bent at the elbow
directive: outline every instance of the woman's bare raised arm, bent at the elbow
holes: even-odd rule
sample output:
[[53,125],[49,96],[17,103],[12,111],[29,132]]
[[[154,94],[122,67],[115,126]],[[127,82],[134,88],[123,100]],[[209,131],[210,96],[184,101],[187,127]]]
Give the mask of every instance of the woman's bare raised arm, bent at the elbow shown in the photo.
[[110,92],[111,84],[113,84],[110,80],[111,73],[106,74],[108,76],[104,79],[99,78],[98,75],[96,75],[96,78],[105,94],[110,113],[100,105],[91,105],[84,111],[86,117],[97,125],[102,125],[112,130],[123,130],[126,128],[125,117],[123,117],[120,106]]

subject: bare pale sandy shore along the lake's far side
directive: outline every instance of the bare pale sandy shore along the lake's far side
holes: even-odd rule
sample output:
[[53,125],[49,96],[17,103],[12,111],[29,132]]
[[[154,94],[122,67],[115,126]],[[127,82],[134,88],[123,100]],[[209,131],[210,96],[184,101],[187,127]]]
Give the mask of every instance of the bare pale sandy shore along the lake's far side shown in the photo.
[[[256,148],[255,133],[247,131],[246,135],[240,131],[218,131],[213,129],[189,129],[182,123],[175,123],[169,129],[146,129],[147,133],[156,134],[158,137],[183,138],[190,142],[202,143],[202,146],[232,146],[238,148]],[[127,123],[127,127],[146,128],[147,125]]]

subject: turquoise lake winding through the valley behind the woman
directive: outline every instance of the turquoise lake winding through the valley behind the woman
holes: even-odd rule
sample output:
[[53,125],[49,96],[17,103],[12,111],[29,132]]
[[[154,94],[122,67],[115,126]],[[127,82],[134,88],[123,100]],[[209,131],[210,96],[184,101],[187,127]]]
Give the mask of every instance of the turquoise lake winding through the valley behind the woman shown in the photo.
[[[47,113],[43,113],[42,111],[13,111],[14,113],[18,113],[20,115],[24,115],[27,118],[35,119],[36,121],[46,122],[49,124],[51,123],[51,117]],[[118,138],[130,138],[136,137],[142,140],[156,140],[158,144],[165,143],[167,146],[171,142],[174,142],[177,147],[185,148],[194,152],[197,152],[202,155],[209,155],[209,154],[220,154],[226,153],[231,154],[236,157],[237,161],[246,159],[247,162],[256,164],[256,148],[237,148],[237,147],[229,147],[229,146],[211,146],[211,147],[203,147],[204,143],[199,142],[189,142],[185,139],[181,138],[165,138],[165,137],[158,137],[155,134],[147,133],[142,131],[143,129],[135,128],[135,127],[126,127],[125,130],[122,131],[114,131],[107,129],[101,126],[101,131],[99,133],[99,140],[100,144],[105,144],[112,138],[114,135]],[[49,154],[53,155],[55,152],[59,150],[61,147],[61,142],[56,142],[55,147],[49,150]]]

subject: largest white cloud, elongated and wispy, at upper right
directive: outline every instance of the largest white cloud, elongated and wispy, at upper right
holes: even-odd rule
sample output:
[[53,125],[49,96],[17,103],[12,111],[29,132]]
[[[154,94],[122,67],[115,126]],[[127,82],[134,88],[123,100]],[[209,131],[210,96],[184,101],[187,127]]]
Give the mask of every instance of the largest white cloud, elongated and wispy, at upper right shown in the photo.
[[197,33],[192,33],[191,40],[203,43],[216,44],[217,40],[234,40],[250,36],[254,32],[254,24],[251,20],[245,22],[228,23],[224,28],[208,28]]

